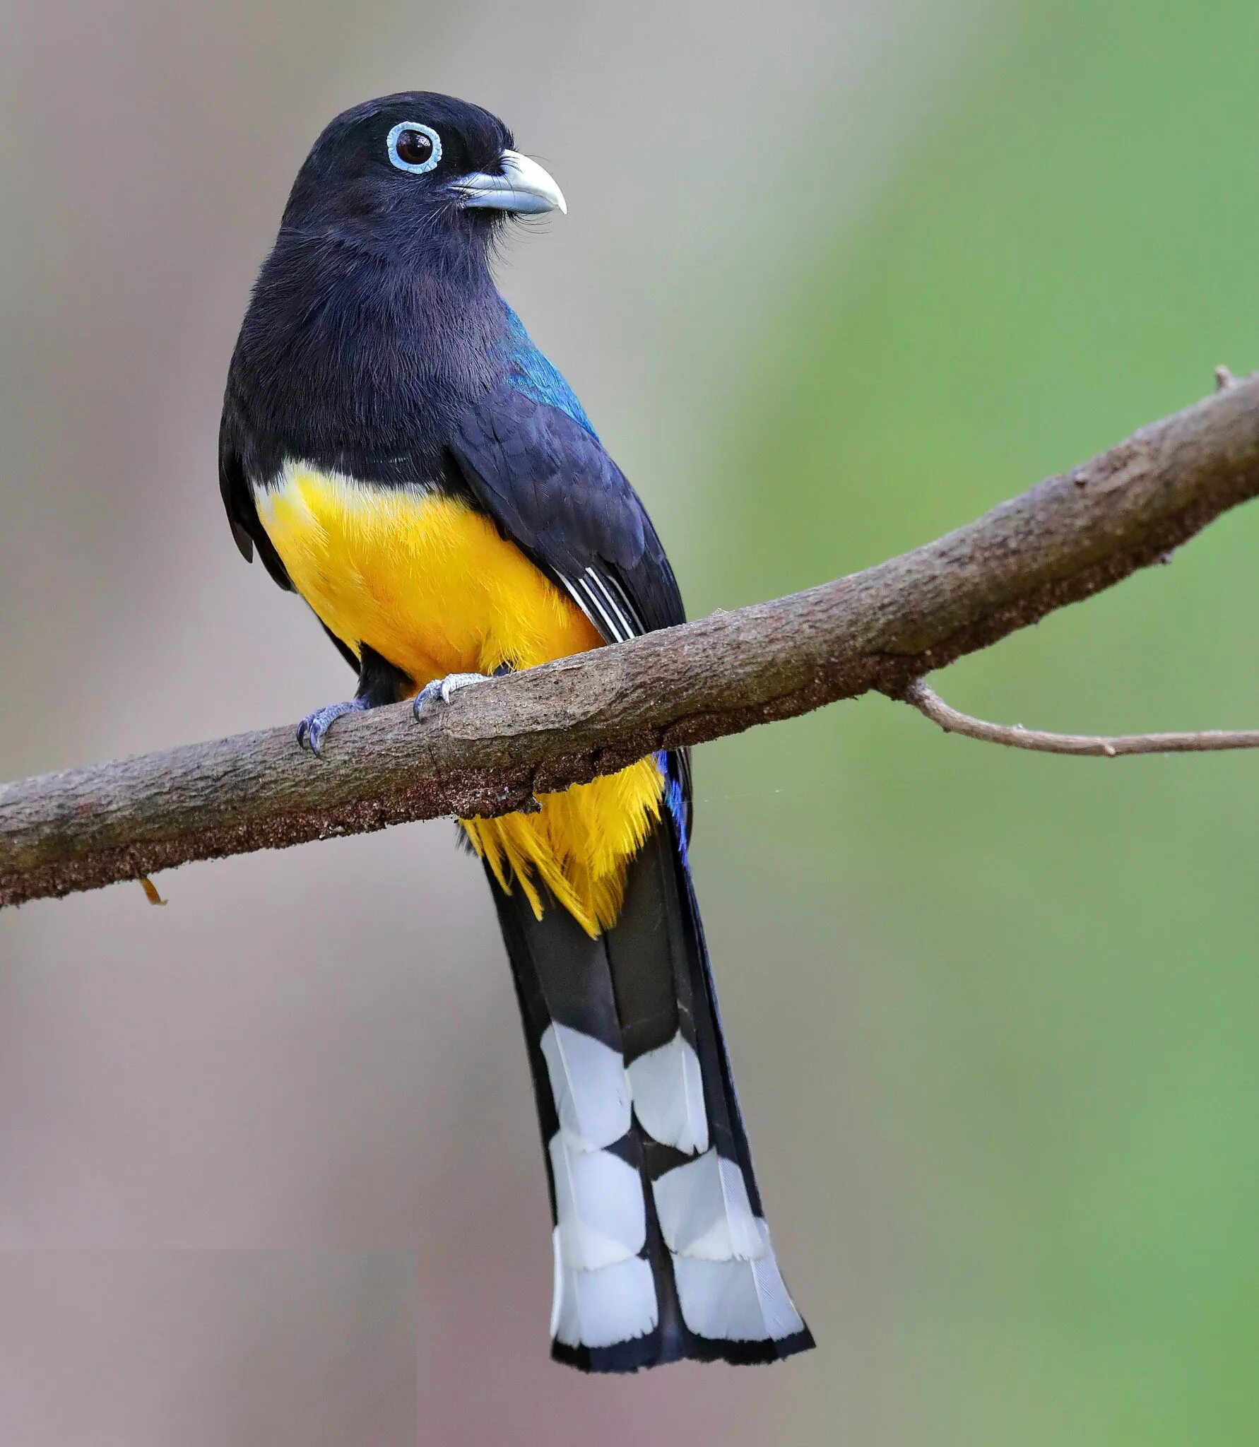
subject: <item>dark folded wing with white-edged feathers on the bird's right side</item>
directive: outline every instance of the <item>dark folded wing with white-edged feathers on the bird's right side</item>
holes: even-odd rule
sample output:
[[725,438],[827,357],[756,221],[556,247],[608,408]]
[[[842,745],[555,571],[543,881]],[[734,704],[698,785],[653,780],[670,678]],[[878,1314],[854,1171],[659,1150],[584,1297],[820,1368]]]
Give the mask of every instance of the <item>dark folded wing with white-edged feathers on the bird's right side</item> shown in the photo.
[[[608,642],[686,621],[645,508],[576,418],[504,382],[465,412],[450,451],[478,506]],[[671,757],[670,773],[682,786],[689,833],[686,751]]]

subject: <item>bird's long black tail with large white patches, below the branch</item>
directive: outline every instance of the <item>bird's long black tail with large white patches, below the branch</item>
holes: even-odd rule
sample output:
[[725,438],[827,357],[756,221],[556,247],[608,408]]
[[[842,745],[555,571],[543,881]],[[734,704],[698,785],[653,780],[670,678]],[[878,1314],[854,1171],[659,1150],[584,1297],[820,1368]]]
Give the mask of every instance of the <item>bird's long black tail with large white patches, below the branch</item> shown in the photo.
[[590,939],[491,877],[556,1223],[551,1354],[586,1372],[813,1346],[774,1260],[677,828]]

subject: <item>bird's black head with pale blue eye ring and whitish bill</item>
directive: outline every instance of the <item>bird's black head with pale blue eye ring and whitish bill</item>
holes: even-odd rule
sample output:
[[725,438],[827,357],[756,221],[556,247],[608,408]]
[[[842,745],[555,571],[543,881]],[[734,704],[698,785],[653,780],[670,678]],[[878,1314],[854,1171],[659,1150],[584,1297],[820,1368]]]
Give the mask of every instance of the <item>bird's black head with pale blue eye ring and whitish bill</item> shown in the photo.
[[479,106],[402,91],[343,111],[294,182],[284,229],[336,233],[391,250],[482,245],[506,216],[564,211],[560,188]]

